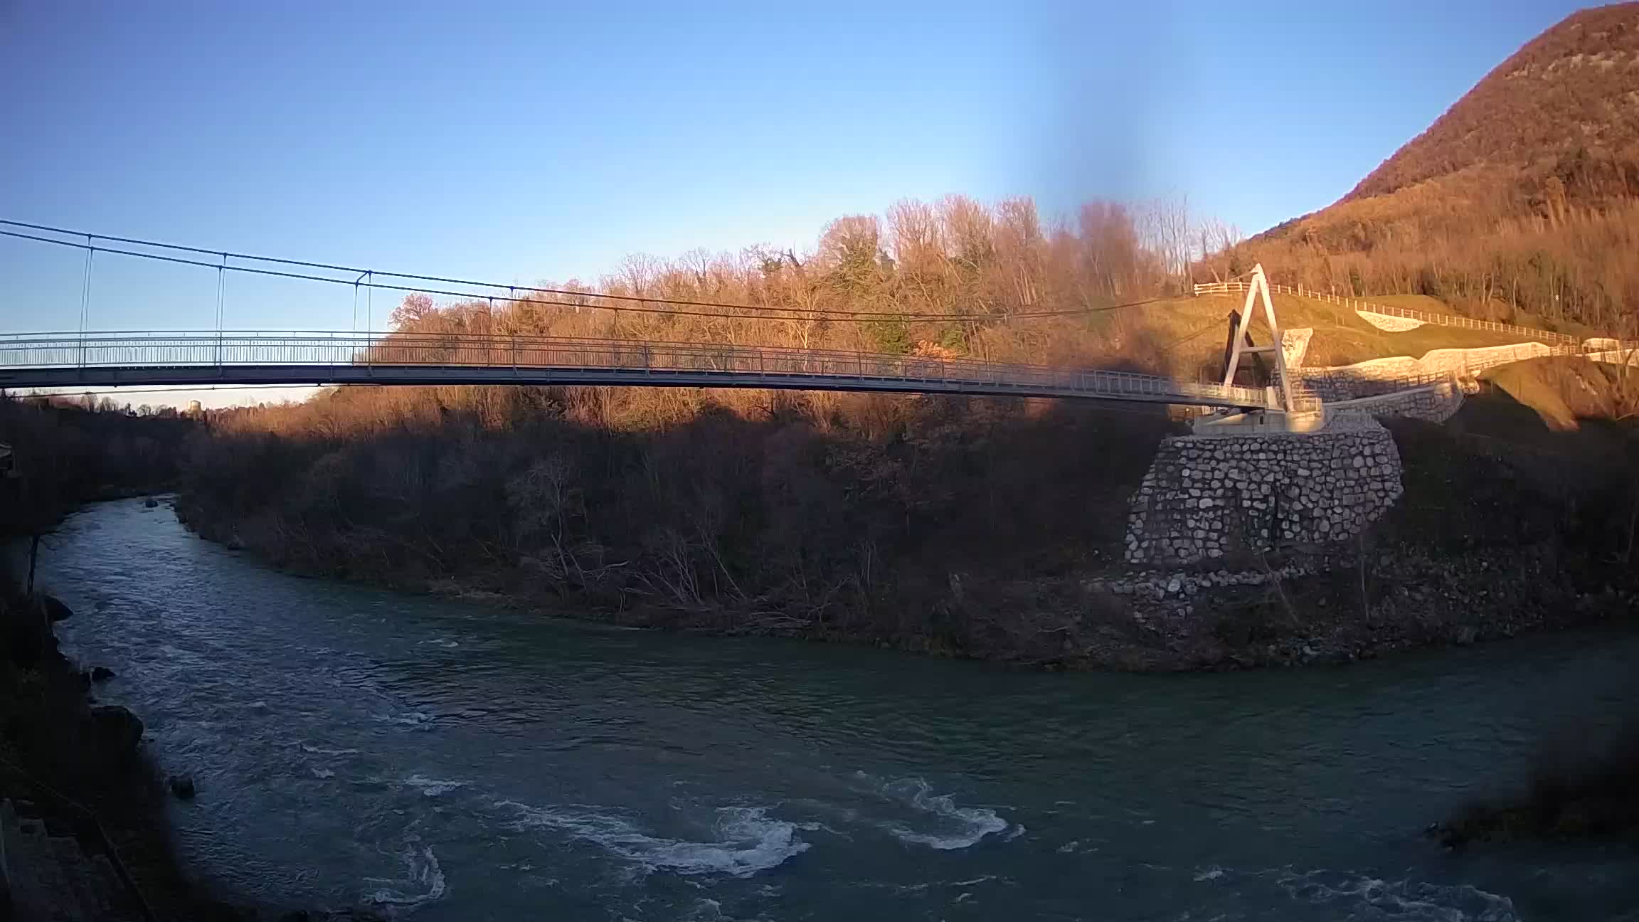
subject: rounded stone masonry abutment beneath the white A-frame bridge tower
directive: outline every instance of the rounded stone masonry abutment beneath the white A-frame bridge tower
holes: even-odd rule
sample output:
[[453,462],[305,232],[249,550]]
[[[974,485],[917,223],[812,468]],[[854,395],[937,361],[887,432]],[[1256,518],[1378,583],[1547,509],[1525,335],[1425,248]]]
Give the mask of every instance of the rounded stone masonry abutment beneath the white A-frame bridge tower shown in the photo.
[[1400,494],[1400,451],[1367,417],[1310,435],[1175,436],[1133,495],[1126,559],[1180,566],[1342,541]]

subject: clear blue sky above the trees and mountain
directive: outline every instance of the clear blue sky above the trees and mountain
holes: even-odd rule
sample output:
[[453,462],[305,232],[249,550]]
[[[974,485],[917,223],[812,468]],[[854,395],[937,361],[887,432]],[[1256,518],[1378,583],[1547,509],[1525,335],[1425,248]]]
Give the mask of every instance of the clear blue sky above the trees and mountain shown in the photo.
[[[520,282],[947,192],[1254,233],[1577,7],[0,0],[0,217]],[[77,328],[80,259],[0,241],[0,331]],[[351,302],[229,277],[228,326]],[[213,313],[208,272],[98,262],[92,328]]]

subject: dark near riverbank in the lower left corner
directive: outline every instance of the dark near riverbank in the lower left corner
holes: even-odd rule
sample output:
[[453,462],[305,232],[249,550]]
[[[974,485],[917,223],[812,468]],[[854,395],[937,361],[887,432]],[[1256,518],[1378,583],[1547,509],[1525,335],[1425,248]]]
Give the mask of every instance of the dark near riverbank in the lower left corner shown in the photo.
[[192,881],[166,819],[172,792],[141,745],[141,719],[98,704],[92,674],[61,653],[52,623],[72,617],[67,607],[3,589],[0,835],[10,876],[3,896],[21,919],[380,919],[223,899]]

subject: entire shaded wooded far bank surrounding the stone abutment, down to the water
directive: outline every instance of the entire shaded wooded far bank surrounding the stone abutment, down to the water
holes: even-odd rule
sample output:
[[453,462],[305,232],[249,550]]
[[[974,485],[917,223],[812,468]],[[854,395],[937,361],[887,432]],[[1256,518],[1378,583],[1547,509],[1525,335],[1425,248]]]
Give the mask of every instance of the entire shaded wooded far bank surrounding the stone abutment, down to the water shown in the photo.
[[1628,427],[1554,433],[1496,394],[1392,428],[1406,495],[1365,541],[1239,561],[1334,569],[1185,618],[1087,586],[1124,569],[1128,497],[1178,430],[1070,402],[344,389],[216,415],[180,512],[303,573],[1049,666],[1349,658],[1626,604]]

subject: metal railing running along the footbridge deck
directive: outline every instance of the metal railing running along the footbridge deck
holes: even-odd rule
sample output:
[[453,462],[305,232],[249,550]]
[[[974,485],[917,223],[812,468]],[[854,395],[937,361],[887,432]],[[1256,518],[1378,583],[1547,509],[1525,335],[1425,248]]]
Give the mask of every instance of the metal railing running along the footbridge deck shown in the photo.
[[[1034,364],[928,356],[511,335],[343,333],[343,331],[115,331],[0,336],[0,387],[79,384],[259,382],[254,369],[297,369],[303,381],[361,382],[382,369],[510,371],[521,382],[703,384],[846,390],[941,390],[1100,397],[1224,407],[1270,407],[1260,387],[1224,387],[1119,371],[1077,371]],[[169,371],[167,371],[169,369]],[[188,374],[180,374],[190,369]],[[215,369],[207,379],[202,371]],[[402,377],[402,376],[400,376]],[[421,374],[418,379],[429,376]],[[380,374],[380,382],[392,382]],[[482,381],[505,381],[485,374]]]

